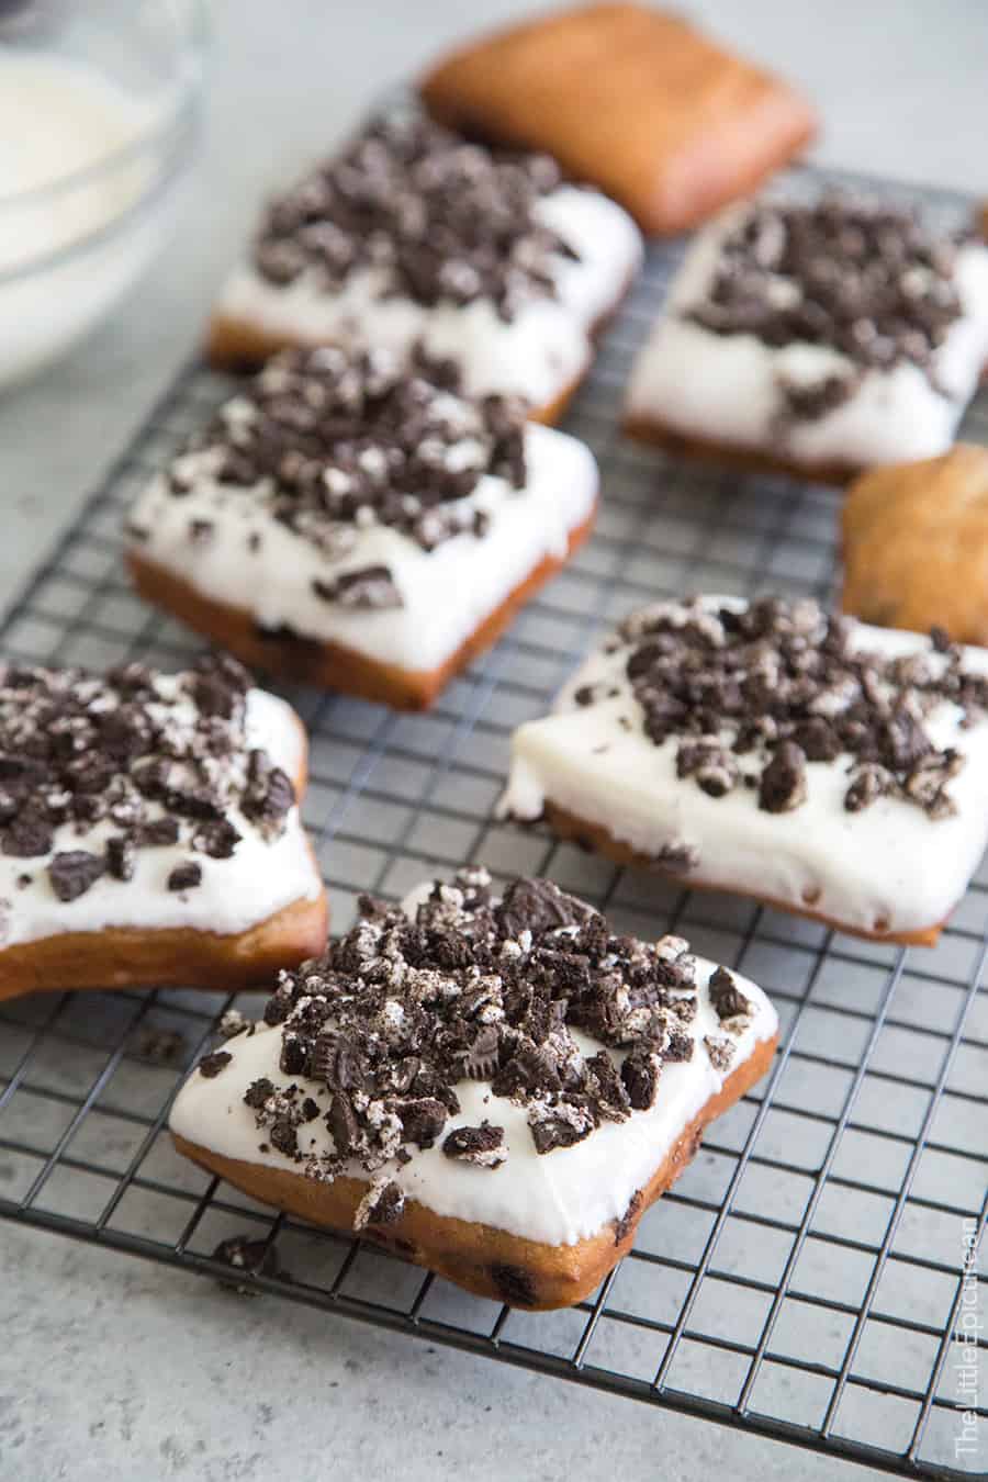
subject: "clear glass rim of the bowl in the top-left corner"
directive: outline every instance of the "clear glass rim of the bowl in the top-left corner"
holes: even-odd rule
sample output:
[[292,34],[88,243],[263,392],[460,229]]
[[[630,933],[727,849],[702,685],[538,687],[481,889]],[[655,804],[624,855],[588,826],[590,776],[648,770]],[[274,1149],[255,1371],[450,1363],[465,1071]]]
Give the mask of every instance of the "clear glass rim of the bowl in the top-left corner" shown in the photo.
[[147,133],[141,135],[141,138],[114,150],[111,154],[104,156],[95,165],[87,165],[81,170],[74,170],[70,175],[61,176],[58,181],[49,181],[46,185],[37,187],[36,190],[0,197],[0,219],[3,210],[19,209],[27,203],[33,205],[34,202],[44,200],[53,194],[58,196],[61,191],[77,190],[80,184],[99,179],[101,175],[110,173],[111,170],[120,167],[121,163],[133,163],[133,160],[141,159],[144,154],[150,154],[154,150],[160,151],[164,145],[160,167],[153,172],[147,185],[133,197],[133,200],[130,200],[123,210],[119,210],[110,219],[99,222],[83,236],[73,237],[71,242],[65,242],[61,246],[53,247],[50,252],[18,262],[15,267],[0,270],[0,288],[7,288],[19,280],[30,280],[52,268],[62,267],[73,258],[83,256],[86,252],[117,236],[121,228],[126,228],[132,222],[138,221],[154,205],[157,205],[157,202],[167,194],[172,184],[182,173],[184,167],[193,157],[194,145],[197,144],[201,132],[203,58],[207,37],[206,0],[190,0],[190,3],[193,15],[190,39],[193,41],[196,65],[185,70],[185,76],[181,82],[179,99],[167,120],[164,123],[154,124]]

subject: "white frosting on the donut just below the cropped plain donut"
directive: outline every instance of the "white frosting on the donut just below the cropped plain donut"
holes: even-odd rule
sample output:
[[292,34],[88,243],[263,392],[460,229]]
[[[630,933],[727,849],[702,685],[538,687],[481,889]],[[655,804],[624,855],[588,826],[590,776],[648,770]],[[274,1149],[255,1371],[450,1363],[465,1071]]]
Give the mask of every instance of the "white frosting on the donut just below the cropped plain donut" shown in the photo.
[[[730,597],[705,600],[711,608],[744,606]],[[871,652],[929,649],[915,633],[867,624],[855,624],[852,633],[853,646]],[[847,812],[847,754],[832,763],[809,762],[806,802],[788,814],[769,814],[750,788],[710,797],[692,778],[675,775],[678,740],[655,745],[644,734],[625,676],[628,652],[625,645],[591,654],[554,714],[518,726],[502,815],[538,818],[548,800],[646,857],[668,843],[690,845],[699,854],[693,873],[704,885],[810,907],[856,931],[921,931],[957,906],[988,843],[988,720],[961,729],[960,710],[942,704],[924,722],[935,745],[957,747],[967,757],[949,782],[957,803],[949,818],[933,821],[898,797]],[[964,654],[969,668],[988,673],[987,649]],[[578,707],[575,691],[601,680],[619,694]],[[630,729],[619,716],[630,719]]]

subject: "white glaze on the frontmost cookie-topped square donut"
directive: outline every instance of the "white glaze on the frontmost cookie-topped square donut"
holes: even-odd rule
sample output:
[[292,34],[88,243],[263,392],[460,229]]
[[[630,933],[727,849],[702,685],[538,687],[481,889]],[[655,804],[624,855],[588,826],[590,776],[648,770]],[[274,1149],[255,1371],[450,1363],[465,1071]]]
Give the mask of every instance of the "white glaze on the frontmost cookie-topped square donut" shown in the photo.
[[[416,891],[407,898],[407,911],[419,895]],[[720,1091],[730,1070],[778,1031],[776,1012],[761,988],[733,974],[755,1012],[748,1027],[732,1036],[736,1049],[730,1070],[721,1073],[711,1064],[704,1036],[724,1034],[707,991],[714,966],[704,959],[696,963],[698,1012],[692,1026],[684,1029],[696,1042],[693,1058],[664,1064],[655,1104],[647,1112],[632,1112],[627,1122],[604,1122],[582,1143],[539,1154],[524,1107],[495,1097],[489,1082],[461,1080],[456,1085],[461,1110],[446,1123],[440,1143],[424,1152],[416,1149],[406,1166],[394,1160],[385,1163],[381,1175],[393,1178],[406,1197],[438,1215],[492,1226],[545,1245],[575,1245],[597,1235],[609,1221],[621,1220],[632,1194],[649,1183],[684,1128]],[[582,1031],[572,1033],[584,1054],[593,1055],[600,1049]],[[330,1092],[314,1080],[283,1074],[278,1069],[280,1027],[259,1024],[253,1036],[240,1034],[224,1049],[233,1061],[216,1077],[207,1079],[194,1070],[182,1086],[172,1109],[172,1131],[224,1157],[304,1177],[298,1165],[277,1149],[268,1146],[265,1153],[259,1152],[267,1138],[258,1131],[243,1094],[261,1076],[276,1086],[293,1080],[321,1109],[329,1107]],[[624,1057],[610,1054],[621,1064]],[[444,1137],[458,1126],[475,1126],[484,1117],[504,1128],[508,1156],[501,1168],[475,1168],[446,1157],[440,1146]],[[305,1153],[333,1149],[321,1117],[307,1123],[299,1138]],[[342,1172],[354,1178],[367,1177],[356,1163]]]

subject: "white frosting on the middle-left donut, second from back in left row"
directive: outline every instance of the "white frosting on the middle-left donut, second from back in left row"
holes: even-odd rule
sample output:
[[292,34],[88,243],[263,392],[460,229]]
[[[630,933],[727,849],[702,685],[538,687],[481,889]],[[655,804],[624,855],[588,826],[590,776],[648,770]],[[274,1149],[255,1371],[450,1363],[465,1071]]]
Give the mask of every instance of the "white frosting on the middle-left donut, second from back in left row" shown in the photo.
[[[219,485],[198,456],[201,476],[176,499],[157,477],[132,513],[150,539],[133,548],[175,572],[215,602],[249,609],[268,627],[287,624],[321,642],[342,643],[406,670],[433,670],[468,639],[545,556],[566,554],[570,531],[591,514],[597,465],[575,437],[548,427],[526,428],[524,489],[484,477],[458,510],[483,510],[490,526],[477,538],[456,535],[425,551],[385,525],[354,529],[356,544],[332,559],[311,541],[271,519],[264,491]],[[191,468],[191,462],[190,462]],[[212,538],[193,544],[190,520],[215,522]],[[353,526],[351,526],[353,529]],[[256,551],[249,536],[261,535]],[[313,579],[385,565],[404,599],[401,608],[353,611],[323,602]]]

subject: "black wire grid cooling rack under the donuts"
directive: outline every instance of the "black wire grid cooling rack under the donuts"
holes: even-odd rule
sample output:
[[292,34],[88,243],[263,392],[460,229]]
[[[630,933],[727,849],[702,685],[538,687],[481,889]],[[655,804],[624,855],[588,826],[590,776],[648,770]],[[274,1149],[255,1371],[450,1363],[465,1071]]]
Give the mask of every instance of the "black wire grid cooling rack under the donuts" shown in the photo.
[[[252,1283],[283,1298],[887,1472],[972,1475],[988,1461],[984,1286],[966,1261],[988,1209],[988,871],[936,948],[902,951],[656,885],[493,818],[511,729],[632,605],[831,590],[834,491],[684,465],[618,431],[677,255],[652,250],[567,418],[603,470],[597,532],[569,568],[425,716],[283,692],[311,731],[305,815],[336,929],[360,891],[398,897],[465,860],[544,873],[622,931],[674,928],[769,988],[784,1023],[772,1074],[710,1131],[594,1298],[532,1315],[274,1217],[178,1157],[170,1100],[218,1014],[256,1011],[256,996],[41,994],[0,1011],[0,1215],[212,1276],[230,1275],[212,1257],[221,1239],[277,1239],[290,1279]],[[198,365],[179,376],[10,609],[3,652],[90,665],[191,652],[129,590],[120,520],[230,385]],[[988,396],[964,431],[988,442]],[[972,1310],[981,1405],[955,1343]]]

